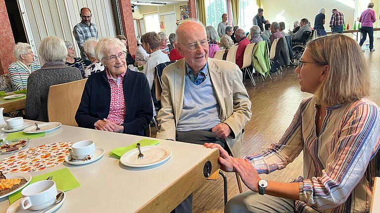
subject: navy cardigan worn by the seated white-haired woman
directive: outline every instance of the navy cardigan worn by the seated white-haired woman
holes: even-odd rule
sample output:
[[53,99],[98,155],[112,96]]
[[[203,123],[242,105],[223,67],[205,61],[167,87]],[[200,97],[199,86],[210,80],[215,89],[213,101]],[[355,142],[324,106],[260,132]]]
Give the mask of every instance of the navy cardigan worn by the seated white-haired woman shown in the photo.
[[[95,129],[98,120],[107,118],[111,104],[111,87],[108,78],[101,71],[89,76],[83,90],[75,120],[79,127]],[[124,118],[124,133],[143,136],[144,129],[153,117],[152,98],[145,74],[141,72],[127,72],[123,78],[123,93],[126,106]]]

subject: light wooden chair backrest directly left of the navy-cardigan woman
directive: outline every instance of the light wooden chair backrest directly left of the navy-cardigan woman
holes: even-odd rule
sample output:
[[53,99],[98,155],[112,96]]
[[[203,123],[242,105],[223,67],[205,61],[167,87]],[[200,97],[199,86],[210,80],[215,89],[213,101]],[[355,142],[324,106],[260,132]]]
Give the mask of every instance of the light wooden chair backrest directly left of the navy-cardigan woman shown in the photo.
[[57,121],[63,125],[78,126],[75,113],[81,102],[87,78],[52,85],[47,95],[47,117],[49,122]]

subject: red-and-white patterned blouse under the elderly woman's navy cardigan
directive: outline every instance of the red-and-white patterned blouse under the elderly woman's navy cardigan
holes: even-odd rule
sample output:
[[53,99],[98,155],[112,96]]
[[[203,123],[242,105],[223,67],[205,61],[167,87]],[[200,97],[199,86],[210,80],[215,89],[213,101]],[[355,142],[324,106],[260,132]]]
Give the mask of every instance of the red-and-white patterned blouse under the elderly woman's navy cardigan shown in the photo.
[[125,114],[127,112],[123,91],[123,78],[126,71],[119,74],[117,79],[112,77],[107,68],[105,73],[108,78],[109,86],[111,87],[111,104],[109,106],[107,119],[122,124],[124,123]]

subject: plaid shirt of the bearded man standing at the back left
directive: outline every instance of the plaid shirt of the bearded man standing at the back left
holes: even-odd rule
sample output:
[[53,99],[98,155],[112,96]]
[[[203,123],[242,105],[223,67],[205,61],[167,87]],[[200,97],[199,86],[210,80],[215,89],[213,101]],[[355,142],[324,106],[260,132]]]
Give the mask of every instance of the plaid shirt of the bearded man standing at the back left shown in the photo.
[[77,25],[75,25],[73,34],[74,34],[75,40],[78,43],[79,49],[81,50],[81,58],[83,60],[85,59],[88,60],[85,54],[85,49],[83,45],[88,38],[91,38],[91,37],[95,37],[96,39],[99,38],[96,25],[94,23],[91,23],[90,26],[88,26],[87,24],[80,22]]

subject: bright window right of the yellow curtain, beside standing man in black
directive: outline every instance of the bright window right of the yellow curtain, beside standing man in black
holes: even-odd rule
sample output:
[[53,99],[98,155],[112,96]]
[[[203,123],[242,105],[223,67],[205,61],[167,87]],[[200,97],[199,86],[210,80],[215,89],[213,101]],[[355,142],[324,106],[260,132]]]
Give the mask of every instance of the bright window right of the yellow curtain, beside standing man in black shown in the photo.
[[256,4],[256,0],[239,1],[239,28],[243,29],[245,32],[249,32],[249,29],[253,26],[252,20],[257,14],[257,9],[259,9],[259,7]]

